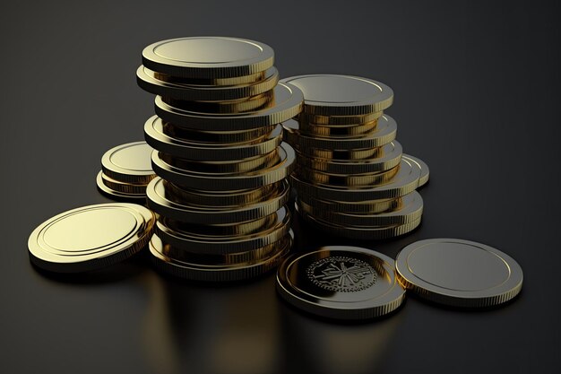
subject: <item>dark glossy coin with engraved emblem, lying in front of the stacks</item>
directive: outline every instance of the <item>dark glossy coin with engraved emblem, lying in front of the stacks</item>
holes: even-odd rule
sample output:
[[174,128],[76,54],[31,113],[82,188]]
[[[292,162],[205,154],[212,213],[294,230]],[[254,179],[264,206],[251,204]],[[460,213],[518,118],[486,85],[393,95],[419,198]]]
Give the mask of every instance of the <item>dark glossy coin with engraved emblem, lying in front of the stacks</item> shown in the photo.
[[393,259],[358,247],[323,247],[291,255],[280,265],[276,285],[280,296],[296,308],[337,319],[384,316],[405,300]]

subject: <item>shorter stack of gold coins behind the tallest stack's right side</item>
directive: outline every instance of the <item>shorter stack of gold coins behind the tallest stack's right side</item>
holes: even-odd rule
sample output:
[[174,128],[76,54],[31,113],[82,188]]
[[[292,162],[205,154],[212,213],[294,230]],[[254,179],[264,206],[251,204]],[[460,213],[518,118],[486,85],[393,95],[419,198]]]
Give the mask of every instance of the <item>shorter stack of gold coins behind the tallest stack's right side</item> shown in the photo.
[[366,78],[317,74],[283,79],[304,93],[304,109],[283,123],[297,151],[297,210],[320,230],[350,239],[386,239],[419,226],[416,188],[428,167],[402,154],[397,125],[384,115],[393,91]]

